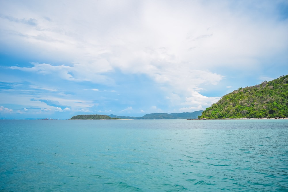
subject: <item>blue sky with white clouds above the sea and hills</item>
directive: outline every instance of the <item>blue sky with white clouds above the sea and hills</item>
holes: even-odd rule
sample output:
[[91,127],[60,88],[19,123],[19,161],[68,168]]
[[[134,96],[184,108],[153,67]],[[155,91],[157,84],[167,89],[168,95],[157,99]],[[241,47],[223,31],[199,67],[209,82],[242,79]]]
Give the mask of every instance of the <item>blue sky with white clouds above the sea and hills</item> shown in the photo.
[[205,110],[288,74],[286,0],[0,1],[0,119]]

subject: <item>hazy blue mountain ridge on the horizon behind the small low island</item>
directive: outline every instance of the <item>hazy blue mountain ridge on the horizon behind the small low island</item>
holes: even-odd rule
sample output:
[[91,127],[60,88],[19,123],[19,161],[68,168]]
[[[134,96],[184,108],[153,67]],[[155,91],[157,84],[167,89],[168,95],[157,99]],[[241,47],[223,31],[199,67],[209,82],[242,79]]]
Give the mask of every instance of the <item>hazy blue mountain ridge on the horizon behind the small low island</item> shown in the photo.
[[146,114],[142,117],[130,117],[130,116],[118,116],[118,115],[108,115],[112,118],[120,118],[120,119],[198,119],[198,116],[201,115],[203,110],[194,111],[192,113],[184,112],[184,113],[150,113]]

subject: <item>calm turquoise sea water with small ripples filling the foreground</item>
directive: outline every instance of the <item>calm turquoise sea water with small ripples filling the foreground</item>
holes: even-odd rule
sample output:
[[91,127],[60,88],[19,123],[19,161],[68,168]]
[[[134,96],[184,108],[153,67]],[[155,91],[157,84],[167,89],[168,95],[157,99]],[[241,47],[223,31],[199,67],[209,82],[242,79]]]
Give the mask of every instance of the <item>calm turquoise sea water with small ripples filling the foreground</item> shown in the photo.
[[0,120],[0,191],[288,191],[288,120]]

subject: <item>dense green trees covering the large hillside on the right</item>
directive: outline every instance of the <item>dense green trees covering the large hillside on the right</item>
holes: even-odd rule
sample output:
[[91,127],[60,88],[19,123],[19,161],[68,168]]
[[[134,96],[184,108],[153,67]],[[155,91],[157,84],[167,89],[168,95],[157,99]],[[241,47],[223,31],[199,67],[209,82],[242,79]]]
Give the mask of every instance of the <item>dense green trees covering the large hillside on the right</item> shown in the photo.
[[198,118],[272,118],[288,117],[288,75],[259,85],[238,88],[211,107]]

